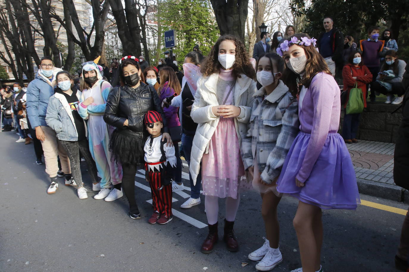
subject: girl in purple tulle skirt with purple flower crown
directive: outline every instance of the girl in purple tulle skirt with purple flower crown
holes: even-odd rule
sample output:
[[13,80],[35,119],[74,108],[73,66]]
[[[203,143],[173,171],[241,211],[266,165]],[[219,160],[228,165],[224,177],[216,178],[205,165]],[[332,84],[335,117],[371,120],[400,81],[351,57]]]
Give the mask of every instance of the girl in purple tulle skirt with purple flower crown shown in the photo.
[[292,272],[323,271],[321,209],[355,210],[360,203],[351,157],[337,133],[340,90],[315,42],[299,33],[277,48],[288,68],[283,81],[299,97],[300,132],[277,181],[279,192],[299,199],[293,224],[302,268]]

